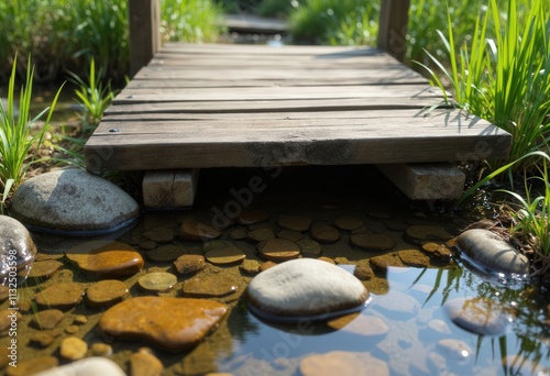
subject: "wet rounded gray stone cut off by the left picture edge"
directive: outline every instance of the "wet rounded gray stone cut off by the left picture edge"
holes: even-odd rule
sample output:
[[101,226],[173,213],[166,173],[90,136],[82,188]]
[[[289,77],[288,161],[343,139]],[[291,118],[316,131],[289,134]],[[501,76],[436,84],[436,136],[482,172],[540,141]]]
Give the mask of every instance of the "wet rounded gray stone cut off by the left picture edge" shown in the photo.
[[[31,233],[11,217],[0,215],[0,285],[26,278],[36,256],[36,245]],[[14,280],[14,281],[15,281]]]

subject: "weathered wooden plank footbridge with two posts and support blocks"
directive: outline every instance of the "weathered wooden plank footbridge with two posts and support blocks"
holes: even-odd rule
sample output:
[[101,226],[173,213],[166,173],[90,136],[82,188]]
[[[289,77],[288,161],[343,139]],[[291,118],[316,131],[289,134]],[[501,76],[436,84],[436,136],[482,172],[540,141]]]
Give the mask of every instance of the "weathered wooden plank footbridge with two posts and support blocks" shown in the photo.
[[400,63],[408,0],[383,1],[381,48],[160,47],[156,1],[130,0],[135,76],[85,148],[91,172],[147,170],[146,206],[193,203],[191,170],[273,165],[377,164],[411,198],[457,197],[440,163],[508,154],[509,134]]

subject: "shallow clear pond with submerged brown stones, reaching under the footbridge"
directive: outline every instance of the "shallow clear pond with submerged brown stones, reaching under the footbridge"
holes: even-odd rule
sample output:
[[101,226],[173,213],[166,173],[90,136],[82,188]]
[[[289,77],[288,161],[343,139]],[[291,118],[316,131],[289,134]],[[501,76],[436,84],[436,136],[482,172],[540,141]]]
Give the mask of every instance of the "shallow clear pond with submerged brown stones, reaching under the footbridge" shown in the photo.
[[[244,206],[234,192],[252,177],[266,188]],[[98,270],[112,270],[110,262],[120,266],[121,257],[94,264],[65,255],[89,239],[34,233],[40,274],[18,289],[18,368],[9,365],[12,311],[8,291],[0,291],[2,373],[105,356],[134,375],[160,367],[166,375],[549,374],[548,291],[484,279],[460,259],[449,262],[452,236],[466,223],[406,200],[374,168],[205,170],[198,192],[193,210],[147,212],[113,234],[117,242],[91,240],[103,251],[112,244],[129,252],[128,274]],[[228,223],[218,239],[182,234],[186,221],[215,220]],[[296,248],[266,251],[271,239]],[[248,309],[246,286],[287,257],[353,273],[370,303],[329,321],[257,318]],[[174,333],[178,322],[186,333]]]

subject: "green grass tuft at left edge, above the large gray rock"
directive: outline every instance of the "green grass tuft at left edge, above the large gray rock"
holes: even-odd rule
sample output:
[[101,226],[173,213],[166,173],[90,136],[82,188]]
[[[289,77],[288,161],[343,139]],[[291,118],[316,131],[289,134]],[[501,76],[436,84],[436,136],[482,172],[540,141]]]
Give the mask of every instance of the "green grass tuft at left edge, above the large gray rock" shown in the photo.
[[[30,57],[29,62],[31,62]],[[38,151],[44,141],[44,135],[48,131],[50,120],[63,88],[63,86],[59,88],[48,108],[32,118],[31,96],[34,68],[31,67],[31,64],[28,65],[25,82],[20,89],[19,111],[15,107],[15,69],[16,56],[8,86],[7,104],[6,107],[3,103],[0,106],[0,185],[3,191],[2,202],[6,202],[10,190],[16,188],[23,181],[29,167],[33,163],[41,161]],[[46,114],[44,123],[38,124],[38,120],[44,114]]]

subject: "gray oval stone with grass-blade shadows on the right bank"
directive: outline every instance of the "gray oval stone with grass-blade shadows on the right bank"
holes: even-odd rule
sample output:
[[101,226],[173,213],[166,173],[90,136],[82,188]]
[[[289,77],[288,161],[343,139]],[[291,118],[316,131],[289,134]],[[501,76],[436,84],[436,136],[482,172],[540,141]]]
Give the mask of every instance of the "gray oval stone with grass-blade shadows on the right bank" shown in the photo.
[[529,273],[527,257],[488,230],[466,230],[457,237],[455,244],[474,263],[495,273],[506,275]]

